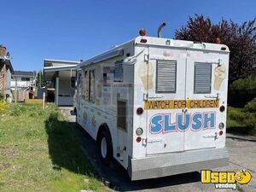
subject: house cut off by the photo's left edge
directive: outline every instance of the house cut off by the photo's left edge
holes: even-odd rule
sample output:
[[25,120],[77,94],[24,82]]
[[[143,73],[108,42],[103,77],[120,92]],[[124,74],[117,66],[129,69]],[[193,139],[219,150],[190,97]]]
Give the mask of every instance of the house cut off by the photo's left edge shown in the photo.
[[11,75],[14,73],[12,67],[9,52],[7,49],[0,45],[0,95],[3,95],[3,98],[11,98]]

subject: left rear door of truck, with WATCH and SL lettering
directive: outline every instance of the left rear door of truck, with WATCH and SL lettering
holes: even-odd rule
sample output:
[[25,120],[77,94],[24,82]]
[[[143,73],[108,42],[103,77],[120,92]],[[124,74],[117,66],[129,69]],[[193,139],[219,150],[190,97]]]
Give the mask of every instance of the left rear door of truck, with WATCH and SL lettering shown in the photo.
[[[150,47],[148,53],[146,153],[183,151],[183,131],[177,131],[176,122],[183,122],[183,116],[177,114],[183,113],[186,51]],[[180,108],[174,108],[174,100],[180,101]]]

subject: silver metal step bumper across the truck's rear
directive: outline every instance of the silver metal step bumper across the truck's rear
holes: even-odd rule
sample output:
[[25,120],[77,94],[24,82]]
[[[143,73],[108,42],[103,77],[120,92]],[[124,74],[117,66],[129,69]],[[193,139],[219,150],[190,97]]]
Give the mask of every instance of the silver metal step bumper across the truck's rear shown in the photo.
[[177,175],[229,165],[227,148],[207,148],[129,159],[131,180]]

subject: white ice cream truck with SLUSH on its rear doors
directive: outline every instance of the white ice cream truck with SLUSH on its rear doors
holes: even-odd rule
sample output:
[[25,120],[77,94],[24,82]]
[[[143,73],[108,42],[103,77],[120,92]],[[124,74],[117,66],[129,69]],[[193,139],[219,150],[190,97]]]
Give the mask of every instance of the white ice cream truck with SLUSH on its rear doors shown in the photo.
[[140,34],[80,62],[77,123],[131,180],[226,166],[229,48]]

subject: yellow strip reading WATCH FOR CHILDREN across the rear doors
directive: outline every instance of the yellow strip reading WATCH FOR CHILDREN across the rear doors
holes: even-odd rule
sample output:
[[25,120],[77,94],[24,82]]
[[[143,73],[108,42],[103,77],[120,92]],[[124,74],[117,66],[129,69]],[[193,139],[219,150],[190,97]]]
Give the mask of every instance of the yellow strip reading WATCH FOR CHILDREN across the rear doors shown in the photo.
[[218,100],[148,100],[144,108],[178,109],[178,108],[218,108]]

